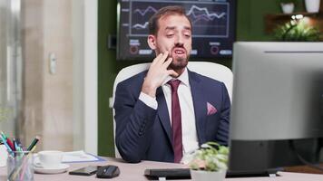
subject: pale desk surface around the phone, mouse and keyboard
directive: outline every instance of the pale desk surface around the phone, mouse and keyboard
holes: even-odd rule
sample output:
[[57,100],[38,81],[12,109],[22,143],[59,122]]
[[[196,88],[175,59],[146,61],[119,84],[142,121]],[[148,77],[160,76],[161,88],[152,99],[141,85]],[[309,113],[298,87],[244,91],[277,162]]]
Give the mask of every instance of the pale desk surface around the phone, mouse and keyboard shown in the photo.
[[[138,164],[129,164],[122,159],[116,159],[111,157],[106,157],[107,161],[105,162],[91,162],[91,163],[74,163],[70,164],[68,171],[94,165],[94,166],[104,166],[104,165],[115,165],[120,168],[120,176],[113,178],[113,180],[148,180],[143,176],[143,170],[146,168],[176,168],[183,167],[181,164],[171,164],[171,163],[162,163],[154,161],[142,161]],[[322,181],[323,175],[314,175],[314,174],[299,174],[299,173],[289,173],[289,172],[280,172],[280,176],[277,177],[248,177],[248,178],[227,178],[226,181]],[[6,180],[6,168],[0,167],[0,180]],[[56,174],[56,175],[42,175],[34,174],[34,180],[46,180],[46,181],[73,181],[73,180],[111,180],[111,179],[100,179],[95,176],[71,176],[68,173]]]

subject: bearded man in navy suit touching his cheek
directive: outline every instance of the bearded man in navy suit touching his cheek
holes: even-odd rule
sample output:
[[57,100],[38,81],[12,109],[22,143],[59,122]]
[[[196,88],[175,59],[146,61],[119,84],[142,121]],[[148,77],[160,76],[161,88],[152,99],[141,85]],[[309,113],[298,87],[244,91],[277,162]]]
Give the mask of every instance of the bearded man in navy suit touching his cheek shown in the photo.
[[180,162],[207,141],[228,145],[228,91],[224,83],[187,69],[192,29],[185,10],[163,7],[149,29],[156,58],[148,71],[116,89],[115,141],[122,158]]

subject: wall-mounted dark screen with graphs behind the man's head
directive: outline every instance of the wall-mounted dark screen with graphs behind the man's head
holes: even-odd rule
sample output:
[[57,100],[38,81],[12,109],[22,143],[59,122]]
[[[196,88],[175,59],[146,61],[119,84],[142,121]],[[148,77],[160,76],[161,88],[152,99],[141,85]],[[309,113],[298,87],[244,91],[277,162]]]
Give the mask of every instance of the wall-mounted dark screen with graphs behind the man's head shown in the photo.
[[192,23],[192,60],[231,57],[235,0],[119,0],[118,60],[151,61],[148,21],[166,5],[181,5]]

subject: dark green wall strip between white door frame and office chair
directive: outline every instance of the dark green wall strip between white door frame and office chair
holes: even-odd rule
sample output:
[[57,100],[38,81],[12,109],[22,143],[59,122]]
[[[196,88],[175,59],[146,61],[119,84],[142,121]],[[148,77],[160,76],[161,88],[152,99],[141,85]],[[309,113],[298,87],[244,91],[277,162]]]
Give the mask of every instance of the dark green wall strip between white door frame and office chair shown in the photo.
[[98,1],[98,154],[114,156],[113,110],[109,98],[113,96],[113,81],[126,66],[138,62],[117,62],[116,50],[107,48],[109,34],[117,33],[117,0]]

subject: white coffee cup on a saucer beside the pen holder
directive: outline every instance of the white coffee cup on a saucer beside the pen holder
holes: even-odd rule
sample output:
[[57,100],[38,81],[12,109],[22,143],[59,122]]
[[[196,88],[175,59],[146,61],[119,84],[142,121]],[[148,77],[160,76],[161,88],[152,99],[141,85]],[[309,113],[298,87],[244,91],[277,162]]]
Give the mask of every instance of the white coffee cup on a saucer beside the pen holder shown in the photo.
[[40,165],[44,168],[57,168],[61,166],[63,152],[62,151],[40,151],[38,152]]

